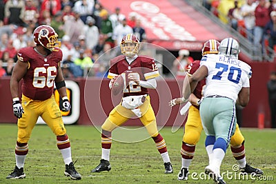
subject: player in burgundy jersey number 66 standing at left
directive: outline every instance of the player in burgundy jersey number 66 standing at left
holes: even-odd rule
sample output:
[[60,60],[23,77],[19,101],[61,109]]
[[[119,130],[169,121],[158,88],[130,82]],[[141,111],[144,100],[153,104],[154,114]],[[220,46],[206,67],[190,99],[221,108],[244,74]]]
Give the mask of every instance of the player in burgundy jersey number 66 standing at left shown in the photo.
[[[70,110],[66,94],[66,83],[61,72],[61,42],[55,30],[48,25],[40,25],[34,32],[34,48],[21,48],[17,54],[10,78],[13,112],[17,116],[17,143],[15,145],[15,169],[6,178],[25,178],[23,167],[28,154],[28,141],[39,116],[57,136],[57,147],[61,151],[66,170],[64,174],[79,180],[81,175],[75,170],[71,158],[71,148],[66,128],[63,125],[59,105],[55,101],[54,82],[62,99],[62,111]],[[19,99],[19,82],[22,98]]]

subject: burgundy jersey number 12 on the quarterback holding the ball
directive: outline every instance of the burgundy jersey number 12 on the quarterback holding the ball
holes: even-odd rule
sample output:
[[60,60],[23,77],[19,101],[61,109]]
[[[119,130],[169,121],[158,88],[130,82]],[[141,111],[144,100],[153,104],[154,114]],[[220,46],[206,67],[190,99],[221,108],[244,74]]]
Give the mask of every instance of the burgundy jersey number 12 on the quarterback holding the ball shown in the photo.
[[146,81],[159,76],[155,60],[150,57],[138,56],[130,64],[126,61],[125,55],[115,57],[115,59],[110,61],[108,78],[112,79],[114,76],[119,74],[123,76],[123,79],[126,82],[124,96],[148,94],[147,88],[143,88],[128,79],[128,74],[130,73],[135,73],[137,77],[139,77],[140,81]]

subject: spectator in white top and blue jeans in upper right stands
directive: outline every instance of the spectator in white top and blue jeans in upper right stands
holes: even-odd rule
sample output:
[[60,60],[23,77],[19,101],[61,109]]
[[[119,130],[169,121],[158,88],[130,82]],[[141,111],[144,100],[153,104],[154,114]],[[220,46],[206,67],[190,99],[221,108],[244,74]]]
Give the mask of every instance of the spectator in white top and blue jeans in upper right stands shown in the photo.
[[251,43],[253,43],[254,39],[256,6],[257,3],[255,3],[254,0],[247,0],[247,3],[241,7],[242,16],[244,17],[244,25],[246,28],[246,37]]

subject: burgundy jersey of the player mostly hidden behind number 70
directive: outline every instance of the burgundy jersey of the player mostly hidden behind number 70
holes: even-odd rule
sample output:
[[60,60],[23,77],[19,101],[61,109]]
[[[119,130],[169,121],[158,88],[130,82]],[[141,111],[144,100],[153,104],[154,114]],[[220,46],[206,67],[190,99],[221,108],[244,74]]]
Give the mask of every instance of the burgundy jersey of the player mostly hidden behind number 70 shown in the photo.
[[[192,75],[193,73],[195,73],[195,71],[197,71],[199,66],[200,66],[199,60],[196,60],[196,61],[193,61],[193,63],[190,63],[187,70],[188,75]],[[197,83],[197,87],[195,87],[193,94],[195,94],[195,96],[197,96],[198,99],[201,99],[201,97],[203,96],[205,84],[206,84],[205,79],[202,79],[201,81],[199,81],[199,83]]]

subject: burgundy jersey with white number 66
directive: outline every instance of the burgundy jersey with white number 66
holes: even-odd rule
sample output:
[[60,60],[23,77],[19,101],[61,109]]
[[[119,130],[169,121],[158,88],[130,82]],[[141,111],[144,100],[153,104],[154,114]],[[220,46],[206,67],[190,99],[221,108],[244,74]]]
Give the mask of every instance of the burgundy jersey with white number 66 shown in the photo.
[[28,71],[23,76],[22,93],[33,100],[50,99],[54,92],[54,81],[59,61],[62,60],[62,51],[52,52],[44,57],[32,47],[21,48],[17,58],[17,62],[29,64]]

